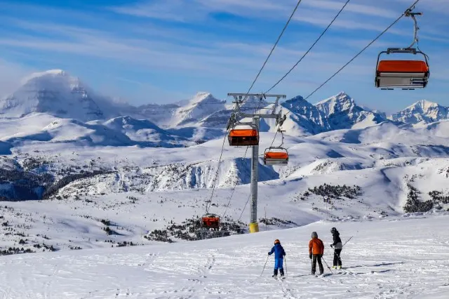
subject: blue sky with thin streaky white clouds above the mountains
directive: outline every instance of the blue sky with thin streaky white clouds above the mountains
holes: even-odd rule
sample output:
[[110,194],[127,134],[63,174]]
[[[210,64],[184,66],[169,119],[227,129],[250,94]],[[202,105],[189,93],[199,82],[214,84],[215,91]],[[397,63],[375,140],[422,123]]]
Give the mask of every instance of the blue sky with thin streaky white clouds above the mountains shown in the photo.
[[[0,0],[0,96],[22,78],[64,69],[99,93],[133,105],[167,103],[208,91],[244,93],[276,41],[296,0]],[[307,51],[343,0],[302,0],[253,92],[267,91]],[[413,1],[351,0],[323,39],[271,92],[307,96],[349,61]],[[429,85],[415,91],[374,86],[377,54],[406,47],[413,22],[401,19],[326,86],[391,113],[427,99],[449,106],[449,1],[421,0],[420,48]],[[230,100],[230,99],[228,99]]]

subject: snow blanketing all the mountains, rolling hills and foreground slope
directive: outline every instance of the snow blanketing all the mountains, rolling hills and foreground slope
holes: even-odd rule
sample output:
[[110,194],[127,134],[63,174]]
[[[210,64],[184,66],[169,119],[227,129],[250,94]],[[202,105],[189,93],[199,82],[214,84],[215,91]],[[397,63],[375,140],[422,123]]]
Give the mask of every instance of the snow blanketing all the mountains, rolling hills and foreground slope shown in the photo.
[[[316,105],[300,96],[286,100],[279,109],[288,113],[288,166],[263,164],[276,124],[260,126],[257,213],[267,232],[194,242],[169,235],[174,244],[145,237],[201,217],[209,200],[211,213],[248,230],[250,149],[223,140],[231,112],[225,101],[203,92],[175,104],[133,107],[108,102],[52,70],[29,77],[1,105],[1,199],[34,199],[0,205],[1,251],[35,252],[0,259],[6,298],[447,295],[448,259],[441,257],[448,255],[449,233],[441,227],[449,204],[404,213],[413,188],[419,201],[433,200],[434,192],[449,197],[449,121],[438,105],[409,107],[413,117],[404,112],[404,124],[343,92]],[[69,113],[56,110],[61,107]],[[256,107],[272,105],[250,98],[243,109]],[[325,204],[313,191],[323,186],[353,188],[355,195]],[[265,215],[269,225],[262,224]],[[328,244],[333,226],[344,237],[356,234],[344,251],[349,268],[309,277],[309,234],[316,230]],[[290,227],[297,228],[282,230]],[[269,277],[270,264],[258,277],[274,239],[292,257],[283,283]],[[119,248],[130,242],[138,246]]]

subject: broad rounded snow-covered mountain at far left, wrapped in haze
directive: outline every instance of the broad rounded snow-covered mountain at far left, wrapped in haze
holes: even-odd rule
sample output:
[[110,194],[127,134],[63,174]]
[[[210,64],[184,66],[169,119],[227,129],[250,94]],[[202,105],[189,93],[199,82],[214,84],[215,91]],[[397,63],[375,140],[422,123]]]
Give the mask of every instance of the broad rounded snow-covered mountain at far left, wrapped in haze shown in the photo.
[[15,93],[0,100],[3,117],[22,117],[32,112],[81,121],[105,117],[95,95],[78,78],[59,69],[32,74]]

